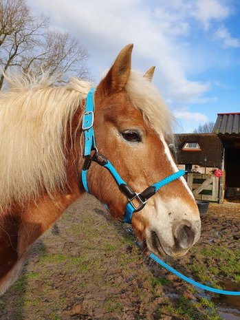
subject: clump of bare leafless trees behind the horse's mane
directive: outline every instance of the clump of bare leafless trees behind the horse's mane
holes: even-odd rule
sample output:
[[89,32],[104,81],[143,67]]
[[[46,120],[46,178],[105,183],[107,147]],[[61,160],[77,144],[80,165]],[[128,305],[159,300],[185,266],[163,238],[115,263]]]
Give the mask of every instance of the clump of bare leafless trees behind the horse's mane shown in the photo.
[[87,78],[87,50],[69,34],[47,30],[48,23],[33,17],[25,0],[0,0],[0,89],[4,73],[14,66]]

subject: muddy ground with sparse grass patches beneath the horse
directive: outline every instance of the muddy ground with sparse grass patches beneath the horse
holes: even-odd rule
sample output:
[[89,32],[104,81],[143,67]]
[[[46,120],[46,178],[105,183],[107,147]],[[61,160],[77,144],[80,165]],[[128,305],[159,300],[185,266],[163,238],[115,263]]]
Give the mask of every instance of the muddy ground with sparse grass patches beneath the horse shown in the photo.
[[[240,204],[210,204],[201,239],[166,262],[205,284],[240,290]],[[238,313],[239,312],[239,313]],[[240,319],[240,297],[208,295],[156,266],[97,200],[76,202],[31,250],[0,299],[0,320]]]

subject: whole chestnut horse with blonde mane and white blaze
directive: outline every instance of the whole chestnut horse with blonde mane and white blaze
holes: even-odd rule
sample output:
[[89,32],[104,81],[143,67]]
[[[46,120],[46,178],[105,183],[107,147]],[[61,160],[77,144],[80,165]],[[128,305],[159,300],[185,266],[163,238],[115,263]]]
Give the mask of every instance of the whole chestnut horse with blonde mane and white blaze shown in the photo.
[[[131,70],[132,50],[133,45],[124,47],[97,85],[94,113],[85,112],[93,87],[88,81],[71,78],[56,85],[47,74],[6,76],[8,89],[0,93],[1,293],[17,279],[36,239],[86,193],[81,179],[86,160],[89,192],[118,220],[131,191],[138,191],[134,198],[142,202],[142,189],[177,173],[166,142],[173,117],[151,83],[154,67],[146,74]],[[95,133],[87,157],[86,116]],[[98,163],[89,161],[94,151]],[[127,182],[124,192],[113,172],[99,165],[100,153]],[[181,257],[199,239],[199,211],[183,177],[140,206],[131,224],[146,251]]]

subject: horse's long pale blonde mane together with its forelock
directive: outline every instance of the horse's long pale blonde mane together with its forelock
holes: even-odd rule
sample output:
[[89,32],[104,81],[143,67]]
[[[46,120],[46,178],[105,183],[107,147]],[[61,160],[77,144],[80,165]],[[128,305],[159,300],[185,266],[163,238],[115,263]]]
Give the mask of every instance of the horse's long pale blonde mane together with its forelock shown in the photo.
[[[78,78],[56,86],[56,76],[46,74],[6,78],[9,89],[0,92],[0,211],[63,188],[67,127],[92,87]],[[160,136],[169,131],[171,114],[150,81],[132,71],[125,89],[147,125]]]

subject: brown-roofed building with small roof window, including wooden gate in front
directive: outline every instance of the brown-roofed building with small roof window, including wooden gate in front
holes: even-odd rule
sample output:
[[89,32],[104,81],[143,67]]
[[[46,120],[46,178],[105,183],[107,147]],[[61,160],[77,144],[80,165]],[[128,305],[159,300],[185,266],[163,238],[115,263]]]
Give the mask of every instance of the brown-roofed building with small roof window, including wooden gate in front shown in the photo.
[[196,200],[219,202],[219,178],[214,173],[221,167],[221,140],[217,134],[175,134],[172,153]]

